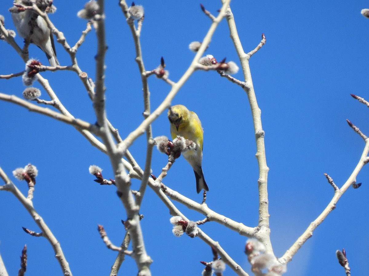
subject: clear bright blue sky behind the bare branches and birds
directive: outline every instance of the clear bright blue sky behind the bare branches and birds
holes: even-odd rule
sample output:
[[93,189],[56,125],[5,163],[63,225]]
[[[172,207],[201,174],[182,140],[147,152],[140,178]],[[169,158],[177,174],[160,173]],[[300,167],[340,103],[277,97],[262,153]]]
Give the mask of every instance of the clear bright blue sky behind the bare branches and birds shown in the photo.
[[[8,8],[1,3],[7,29],[14,29]],[[217,14],[220,1],[201,3]],[[55,1],[58,8],[50,18],[74,45],[86,22],[76,17],[84,1]],[[156,68],[164,57],[169,78],[177,81],[194,54],[190,42],[201,41],[211,22],[196,1],[136,2],[145,8],[141,32],[146,70]],[[350,176],[364,148],[364,142],[348,127],[346,118],[369,135],[368,110],[350,93],[368,96],[369,20],[360,11],[367,1],[232,1],[238,34],[245,52],[254,49],[265,33],[266,45],[250,60],[251,73],[265,131],[271,240],[276,256],[282,256],[333,197],[324,177],[329,174],[341,185]],[[143,120],[142,88],[134,61],[134,44],[117,1],[106,4],[106,102],[107,116],[121,137],[126,137]],[[23,46],[22,39],[16,41]],[[47,64],[44,53],[30,46],[30,56]],[[57,44],[61,65],[69,65],[69,55]],[[77,53],[79,66],[94,79],[96,36],[87,35]],[[206,54],[218,60],[227,57],[239,65],[224,20],[215,31]],[[0,74],[24,70],[24,63],[7,43],[0,43]],[[68,71],[44,72],[59,99],[76,118],[95,122],[92,103],[76,74]],[[234,75],[242,80],[242,72]],[[38,84],[35,86],[39,87]],[[41,88],[41,87],[40,87]],[[170,88],[154,76],[149,78],[151,107],[154,110]],[[0,92],[21,97],[20,78],[0,80]],[[42,92],[42,99],[48,100]],[[204,128],[203,170],[210,188],[207,204],[216,212],[254,227],[258,222],[258,167],[255,138],[247,96],[237,85],[216,72],[196,72],[173,100],[197,113]],[[116,253],[106,249],[97,232],[102,224],[111,241],[119,245],[124,237],[123,206],[115,187],[100,186],[88,173],[96,164],[105,178],[113,178],[109,160],[69,125],[10,103],[0,102],[0,166],[11,180],[27,193],[25,183],[11,171],[28,163],[37,166],[39,176],[34,207],[58,238],[74,275],[107,275]],[[162,114],[152,124],[154,136],[169,136],[169,123]],[[143,167],[145,137],[130,151]],[[154,150],[152,170],[159,174],[167,158]],[[357,178],[358,190],[350,188],[337,208],[314,231],[287,265],[290,276],[345,275],[335,257],[345,248],[355,275],[368,270],[368,179],[363,167]],[[176,160],[163,181],[170,188],[201,202],[189,164]],[[138,180],[132,188],[138,189]],[[176,206],[190,219],[204,217]],[[7,192],[0,192],[0,253],[8,273],[19,269],[19,255],[28,247],[27,275],[60,273],[51,246],[44,238],[25,234],[22,226],[39,231],[23,206]],[[200,275],[211,261],[210,248],[200,239],[176,238],[171,233],[169,212],[150,189],[141,213],[146,250],[154,262],[153,275]],[[218,241],[246,272],[250,265],[244,255],[246,237],[217,223],[201,226]],[[120,275],[136,275],[132,259],[126,258]],[[234,275],[230,268],[224,275]]]

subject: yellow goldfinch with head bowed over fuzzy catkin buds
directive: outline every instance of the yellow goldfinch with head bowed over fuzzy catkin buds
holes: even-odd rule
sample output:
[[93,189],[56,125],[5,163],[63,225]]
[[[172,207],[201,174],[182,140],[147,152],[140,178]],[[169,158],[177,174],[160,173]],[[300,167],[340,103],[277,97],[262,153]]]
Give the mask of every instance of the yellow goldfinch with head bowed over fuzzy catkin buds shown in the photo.
[[184,105],[172,106],[168,111],[168,119],[170,122],[170,134],[172,139],[182,136],[185,139],[196,143],[196,148],[183,152],[184,159],[191,165],[196,177],[197,194],[201,190],[208,191],[201,163],[203,160],[203,133],[201,122],[196,113],[187,109]]

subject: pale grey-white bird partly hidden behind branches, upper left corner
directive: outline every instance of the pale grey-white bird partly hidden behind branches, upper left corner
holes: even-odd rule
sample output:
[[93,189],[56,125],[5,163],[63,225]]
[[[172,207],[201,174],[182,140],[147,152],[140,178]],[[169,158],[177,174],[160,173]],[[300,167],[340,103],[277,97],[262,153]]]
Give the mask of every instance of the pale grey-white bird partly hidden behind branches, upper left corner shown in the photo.
[[[14,0],[14,4],[32,6],[32,2],[29,0]],[[43,12],[52,13],[55,11],[55,7],[52,6],[52,0],[37,0],[36,4]],[[50,66],[59,65],[59,61],[56,59],[54,37],[45,20],[43,20],[41,16],[37,16],[32,10],[21,11],[21,8],[17,6],[11,7],[9,11],[18,34],[24,39],[30,35],[31,18],[34,20],[31,43],[38,46],[46,54]]]

